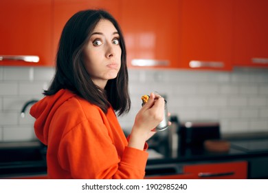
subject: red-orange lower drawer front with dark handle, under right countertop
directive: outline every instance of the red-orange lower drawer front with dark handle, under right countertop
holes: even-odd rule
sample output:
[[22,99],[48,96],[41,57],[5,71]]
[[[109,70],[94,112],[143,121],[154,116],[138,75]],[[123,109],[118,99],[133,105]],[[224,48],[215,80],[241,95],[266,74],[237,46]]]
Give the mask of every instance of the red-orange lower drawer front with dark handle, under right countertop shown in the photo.
[[185,165],[192,179],[247,179],[247,161]]

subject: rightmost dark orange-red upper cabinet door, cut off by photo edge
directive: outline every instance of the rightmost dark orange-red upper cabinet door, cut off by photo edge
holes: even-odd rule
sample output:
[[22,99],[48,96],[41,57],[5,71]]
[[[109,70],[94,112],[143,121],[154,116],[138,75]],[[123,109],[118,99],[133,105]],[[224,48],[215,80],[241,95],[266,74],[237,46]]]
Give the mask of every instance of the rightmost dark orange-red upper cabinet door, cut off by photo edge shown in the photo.
[[268,1],[234,1],[234,65],[268,67]]

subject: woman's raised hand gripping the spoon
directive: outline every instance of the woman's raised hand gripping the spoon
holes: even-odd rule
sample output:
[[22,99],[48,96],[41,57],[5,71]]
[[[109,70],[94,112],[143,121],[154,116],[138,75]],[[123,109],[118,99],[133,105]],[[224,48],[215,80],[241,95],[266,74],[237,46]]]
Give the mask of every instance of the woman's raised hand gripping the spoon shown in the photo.
[[164,106],[165,101],[161,96],[150,94],[148,102],[135,117],[129,146],[143,150],[146,140],[155,134],[153,130],[164,119]]

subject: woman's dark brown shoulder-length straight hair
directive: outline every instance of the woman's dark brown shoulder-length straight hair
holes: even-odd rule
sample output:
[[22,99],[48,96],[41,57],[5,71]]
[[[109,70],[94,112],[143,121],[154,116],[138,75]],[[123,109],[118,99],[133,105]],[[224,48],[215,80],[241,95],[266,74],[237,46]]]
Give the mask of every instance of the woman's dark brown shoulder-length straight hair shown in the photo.
[[[100,19],[113,23],[120,37],[121,67],[118,76],[107,82],[104,90],[91,81],[83,62],[83,50]],[[103,112],[111,105],[118,115],[129,112],[129,75],[126,66],[126,46],[118,22],[104,10],[83,10],[77,12],[65,24],[58,45],[56,57],[56,74],[44,94],[56,94],[60,89],[68,89],[83,99],[98,105]]]

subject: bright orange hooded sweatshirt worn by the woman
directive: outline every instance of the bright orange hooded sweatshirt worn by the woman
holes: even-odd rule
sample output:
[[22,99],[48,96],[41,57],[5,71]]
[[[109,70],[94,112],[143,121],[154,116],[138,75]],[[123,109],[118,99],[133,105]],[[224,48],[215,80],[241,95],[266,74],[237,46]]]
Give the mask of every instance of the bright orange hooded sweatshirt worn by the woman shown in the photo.
[[143,179],[148,153],[128,147],[112,108],[107,114],[59,90],[34,104],[34,130],[47,145],[49,179]]

